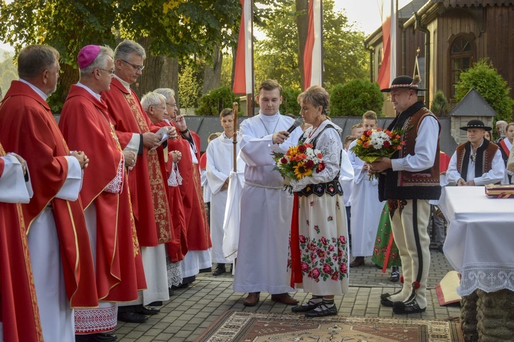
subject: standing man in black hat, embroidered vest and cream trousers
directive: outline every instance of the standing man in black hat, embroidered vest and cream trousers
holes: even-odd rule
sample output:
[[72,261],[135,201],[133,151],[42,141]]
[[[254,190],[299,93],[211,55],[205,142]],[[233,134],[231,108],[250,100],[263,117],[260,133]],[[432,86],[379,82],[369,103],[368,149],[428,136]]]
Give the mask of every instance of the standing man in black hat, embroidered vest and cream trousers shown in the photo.
[[430,199],[439,199],[439,133],[441,125],[422,101],[417,100],[419,77],[396,77],[391,93],[397,116],[388,130],[402,130],[405,145],[391,158],[378,158],[370,165],[380,173],[378,197],[387,199],[391,228],[402,260],[402,290],[384,293],[380,303],[397,314],[426,310],[426,282],[430,267],[430,238],[426,231]]

